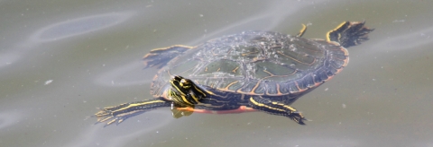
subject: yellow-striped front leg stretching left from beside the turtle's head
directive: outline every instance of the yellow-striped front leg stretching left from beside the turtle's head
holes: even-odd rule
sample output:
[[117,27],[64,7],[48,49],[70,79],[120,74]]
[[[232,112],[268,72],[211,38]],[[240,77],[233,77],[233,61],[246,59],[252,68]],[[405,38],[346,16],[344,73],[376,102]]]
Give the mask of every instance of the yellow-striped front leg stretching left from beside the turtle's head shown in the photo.
[[107,122],[107,125],[112,125],[116,122],[116,125],[122,123],[129,117],[140,115],[146,111],[161,108],[170,107],[171,101],[163,99],[147,99],[143,101],[135,101],[131,103],[124,103],[115,107],[101,108],[93,117],[97,117],[97,123]]

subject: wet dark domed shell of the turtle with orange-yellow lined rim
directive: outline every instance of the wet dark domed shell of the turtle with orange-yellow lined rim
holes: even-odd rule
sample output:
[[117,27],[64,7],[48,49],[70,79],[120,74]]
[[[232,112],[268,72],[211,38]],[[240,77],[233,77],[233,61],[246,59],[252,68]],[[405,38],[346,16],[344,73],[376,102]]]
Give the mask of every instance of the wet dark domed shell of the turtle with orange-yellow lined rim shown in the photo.
[[182,75],[207,91],[297,98],[347,63],[347,50],[334,41],[244,31],[211,39],[171,59],[154,77],[151,93],[161,97],[171,76]]

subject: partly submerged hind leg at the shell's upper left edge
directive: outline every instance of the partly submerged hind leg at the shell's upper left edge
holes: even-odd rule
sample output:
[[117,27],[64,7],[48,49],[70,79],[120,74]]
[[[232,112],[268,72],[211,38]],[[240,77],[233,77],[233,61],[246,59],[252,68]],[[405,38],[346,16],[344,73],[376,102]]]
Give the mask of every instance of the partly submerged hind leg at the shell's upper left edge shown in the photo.
[[145,65],[144,68],[153,66],[156,68],[161,68],[162,66],[167,65],[167,63],[169,63],[172,58],[180,56],[190,48],[193,47],[175,45],[168,48],[152,49],[151,52],[143,56],[143,62]]

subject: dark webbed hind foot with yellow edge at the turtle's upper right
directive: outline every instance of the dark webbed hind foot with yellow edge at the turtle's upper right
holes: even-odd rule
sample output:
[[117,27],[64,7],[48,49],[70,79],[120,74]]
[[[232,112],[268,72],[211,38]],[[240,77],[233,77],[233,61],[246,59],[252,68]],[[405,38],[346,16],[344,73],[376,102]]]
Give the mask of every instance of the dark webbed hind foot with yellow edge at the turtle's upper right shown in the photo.
[[368,40],[368,33],[374,29],[364,26],[365,22],[343,22],[336,29],[327,32],[327,41],[336,41],[349,48]]

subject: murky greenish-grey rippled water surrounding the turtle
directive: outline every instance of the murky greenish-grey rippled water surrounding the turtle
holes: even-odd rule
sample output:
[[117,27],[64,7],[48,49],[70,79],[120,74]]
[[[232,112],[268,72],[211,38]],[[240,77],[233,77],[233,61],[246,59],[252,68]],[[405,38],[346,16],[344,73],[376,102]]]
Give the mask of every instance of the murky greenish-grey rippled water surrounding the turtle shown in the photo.
[[[433,146],[433,1],[0,1],[0,146]],[[169,108],[93,125],[97,108],[149,99],[152,48],[242,30],[325,38],[367,21],[350,63],[292,106],[174,119]]]

